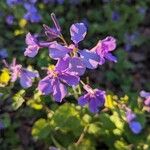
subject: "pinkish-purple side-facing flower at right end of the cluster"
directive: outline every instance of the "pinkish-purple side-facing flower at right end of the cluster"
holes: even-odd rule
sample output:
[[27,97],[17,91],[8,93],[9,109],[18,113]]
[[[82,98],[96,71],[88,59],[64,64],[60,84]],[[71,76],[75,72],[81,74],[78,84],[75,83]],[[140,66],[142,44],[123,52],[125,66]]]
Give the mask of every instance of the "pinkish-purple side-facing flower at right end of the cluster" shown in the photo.
[[108,36],[102,41],[99,41],[97,45],[91,49],[91,51],[94,51],[99,55],[100,57],[99,64],[102,65],[105,63],[105,59],[117,62],[117,58],[110,53],[111,51],[115,50],[115,48],[116,48],[116,39],[111,36]]

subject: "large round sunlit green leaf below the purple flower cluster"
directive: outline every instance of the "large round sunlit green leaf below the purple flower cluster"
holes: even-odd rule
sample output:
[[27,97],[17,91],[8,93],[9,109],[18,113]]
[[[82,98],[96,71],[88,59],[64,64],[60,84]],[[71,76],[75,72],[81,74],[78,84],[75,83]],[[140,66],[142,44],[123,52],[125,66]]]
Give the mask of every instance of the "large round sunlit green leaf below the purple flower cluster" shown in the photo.
[[66,103],[61,105],[53,115],[53,125],[61,131],[72,131],[75,135],[80,135],[83,130],[82,120],[74,105]]

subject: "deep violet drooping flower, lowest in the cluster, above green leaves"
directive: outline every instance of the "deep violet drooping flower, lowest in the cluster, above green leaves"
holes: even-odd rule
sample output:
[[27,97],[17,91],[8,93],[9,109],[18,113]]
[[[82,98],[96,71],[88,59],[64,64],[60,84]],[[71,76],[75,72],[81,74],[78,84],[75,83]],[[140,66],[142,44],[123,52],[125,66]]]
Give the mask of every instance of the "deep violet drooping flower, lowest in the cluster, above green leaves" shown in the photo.
[[84,89],[87,93],[84,96],[79,97],[78,104],[81,106],[88,104],[89,110],[92,113],[97,113],[99,108],[104,105],[105,92],[98,89],[93,90],[88,85],[84,86]]

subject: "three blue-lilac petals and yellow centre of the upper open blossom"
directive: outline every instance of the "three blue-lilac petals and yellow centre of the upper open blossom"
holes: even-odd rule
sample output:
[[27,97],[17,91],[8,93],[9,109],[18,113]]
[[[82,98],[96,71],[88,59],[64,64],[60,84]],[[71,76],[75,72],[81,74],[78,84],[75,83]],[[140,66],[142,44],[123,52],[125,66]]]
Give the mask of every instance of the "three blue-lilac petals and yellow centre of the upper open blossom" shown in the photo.
[[99,56],[87,49],[79,50],[78,43],[82,41],[86,35],[86,27],[83,23],[73,24],[70,28],[71,39],[74,44],[69,46],[58,44],[56,41],[49,46],[49,55],[53,59],[63,58],[65,55],[74,53],[74,57],[84,63],[85,67],[95,69],[100,61]]

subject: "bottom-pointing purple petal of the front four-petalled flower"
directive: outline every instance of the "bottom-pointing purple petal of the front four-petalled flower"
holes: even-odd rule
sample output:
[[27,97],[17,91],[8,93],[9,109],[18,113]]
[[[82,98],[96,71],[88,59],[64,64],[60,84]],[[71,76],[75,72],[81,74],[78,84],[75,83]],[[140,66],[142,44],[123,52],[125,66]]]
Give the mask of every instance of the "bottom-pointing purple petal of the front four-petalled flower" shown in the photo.
[[54,86],[53,86],[53,97],[55,101],[62,102],[62,99],[67,94],[67,88],[64,84],[62,84],[60,81],[55,80]]

